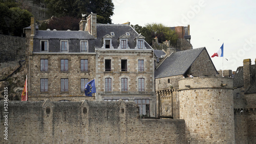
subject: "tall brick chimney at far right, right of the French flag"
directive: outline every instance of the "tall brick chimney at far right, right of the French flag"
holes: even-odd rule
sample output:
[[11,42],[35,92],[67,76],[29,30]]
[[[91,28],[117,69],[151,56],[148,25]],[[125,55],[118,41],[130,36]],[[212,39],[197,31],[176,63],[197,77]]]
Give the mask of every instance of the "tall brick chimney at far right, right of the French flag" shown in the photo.
[[243,61],[244,66],[244,90],[247,89],[251,85],[251,59],[244,59]]

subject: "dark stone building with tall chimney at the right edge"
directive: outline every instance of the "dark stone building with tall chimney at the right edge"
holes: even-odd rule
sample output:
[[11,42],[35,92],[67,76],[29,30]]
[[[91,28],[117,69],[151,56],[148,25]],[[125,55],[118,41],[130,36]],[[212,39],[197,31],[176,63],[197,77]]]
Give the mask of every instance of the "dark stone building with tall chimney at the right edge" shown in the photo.
[[244,59],[233,78],[234,124],[237,143],[256,141],[256,59]]

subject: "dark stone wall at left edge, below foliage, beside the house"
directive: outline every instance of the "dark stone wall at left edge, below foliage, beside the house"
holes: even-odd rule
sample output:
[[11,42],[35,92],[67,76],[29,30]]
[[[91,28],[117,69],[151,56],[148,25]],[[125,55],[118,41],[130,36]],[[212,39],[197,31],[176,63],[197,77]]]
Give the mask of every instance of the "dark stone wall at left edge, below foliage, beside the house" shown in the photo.
[[25,37],[0,35],[0,62],[25,60]]

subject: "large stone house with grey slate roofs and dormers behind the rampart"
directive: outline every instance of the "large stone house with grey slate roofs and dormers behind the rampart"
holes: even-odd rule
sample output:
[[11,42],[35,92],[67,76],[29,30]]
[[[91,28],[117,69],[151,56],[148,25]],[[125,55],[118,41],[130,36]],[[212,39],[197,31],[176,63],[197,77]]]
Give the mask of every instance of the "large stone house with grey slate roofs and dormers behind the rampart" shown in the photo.
[[[79,31],[40,31],[34,18],[26,33],[29,101],[136,102],[140,114],[154,116],[153,49],[130,25],[82,18]],[[84,86],[96,80],[94,97]]]

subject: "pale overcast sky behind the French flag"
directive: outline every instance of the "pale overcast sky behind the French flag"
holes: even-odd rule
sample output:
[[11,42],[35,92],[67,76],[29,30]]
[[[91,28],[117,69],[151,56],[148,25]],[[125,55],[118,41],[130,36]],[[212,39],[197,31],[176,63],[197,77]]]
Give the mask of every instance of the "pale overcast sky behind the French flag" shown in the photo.
[[[244,59],[256,59],[256,1],[112,0],[112,23],[145,26],[190,26],[193,49],[206,47],[209,56],[224,43],[224,57],[211,58],[217,70],[236,71]],[[222,68],[223,67],[223,68]]]

